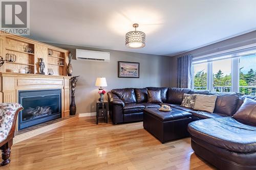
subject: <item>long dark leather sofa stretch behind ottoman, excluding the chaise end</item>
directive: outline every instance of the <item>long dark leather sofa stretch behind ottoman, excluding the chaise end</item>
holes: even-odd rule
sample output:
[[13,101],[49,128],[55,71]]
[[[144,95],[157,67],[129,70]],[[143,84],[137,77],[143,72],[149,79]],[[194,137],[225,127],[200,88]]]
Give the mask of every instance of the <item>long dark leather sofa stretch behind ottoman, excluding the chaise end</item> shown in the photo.
[[[147,89],[161,90],[163,103],[147,103]],[[218,95],[214,113],[181,107],[184,93]],[[187,111],[193,114],[194,120],[232,116],[239,108],[240,96],[241,94],[237,93],[218,93],[209,90],[167,87],[123,88],[113,89],[108,92],[109,110],[113,124],[141,121],[143,120],[144,108],[160,107],[162,104]]]

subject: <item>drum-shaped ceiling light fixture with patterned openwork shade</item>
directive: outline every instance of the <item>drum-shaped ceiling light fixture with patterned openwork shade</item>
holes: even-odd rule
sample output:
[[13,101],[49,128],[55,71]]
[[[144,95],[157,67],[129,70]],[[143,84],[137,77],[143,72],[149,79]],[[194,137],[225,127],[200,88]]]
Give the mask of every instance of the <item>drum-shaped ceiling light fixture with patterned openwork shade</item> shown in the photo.
[[125,45],[129,48],[142,48],[145,46],[146,34],[136,31],[136,28],[139,27],[138,23],[134,23],[133,27],[135,31],[128,32],[125,35]]

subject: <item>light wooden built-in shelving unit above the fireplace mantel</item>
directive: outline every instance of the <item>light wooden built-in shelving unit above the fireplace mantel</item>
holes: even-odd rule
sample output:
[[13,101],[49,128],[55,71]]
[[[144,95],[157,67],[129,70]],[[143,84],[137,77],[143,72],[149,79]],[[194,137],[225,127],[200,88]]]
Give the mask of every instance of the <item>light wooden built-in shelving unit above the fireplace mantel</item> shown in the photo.
[[[1,34],[0,45],[0,56],[5,60],[0,72],[18,73],[20,68],[27,67],[32,74],[39,74],[39,58],[43,58],[46,75],[48,69],[52,69],[55,76],[67,76],[67,50],[12,34]],[[32,49],[32,53],[26,51],[26,46]],[[8,54],[16,56],[14,62],[7,60]]]

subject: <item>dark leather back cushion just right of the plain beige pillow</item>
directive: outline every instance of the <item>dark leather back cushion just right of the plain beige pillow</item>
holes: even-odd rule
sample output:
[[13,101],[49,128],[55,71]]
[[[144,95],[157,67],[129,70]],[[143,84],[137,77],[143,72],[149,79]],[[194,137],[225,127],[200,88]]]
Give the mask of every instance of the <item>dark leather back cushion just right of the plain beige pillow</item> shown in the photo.
[[217,94],[214,112],[232,116],[237,111],[239,94],[237,93],[212,93]]

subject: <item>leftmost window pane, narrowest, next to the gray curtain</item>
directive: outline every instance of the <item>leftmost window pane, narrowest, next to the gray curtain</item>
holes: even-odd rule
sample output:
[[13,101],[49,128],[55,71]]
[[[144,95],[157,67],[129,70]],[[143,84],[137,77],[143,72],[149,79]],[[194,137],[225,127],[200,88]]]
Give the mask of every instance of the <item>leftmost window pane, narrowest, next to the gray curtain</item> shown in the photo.
[[206,90],[207,63],[194,64],[194,88],[197,90]]

